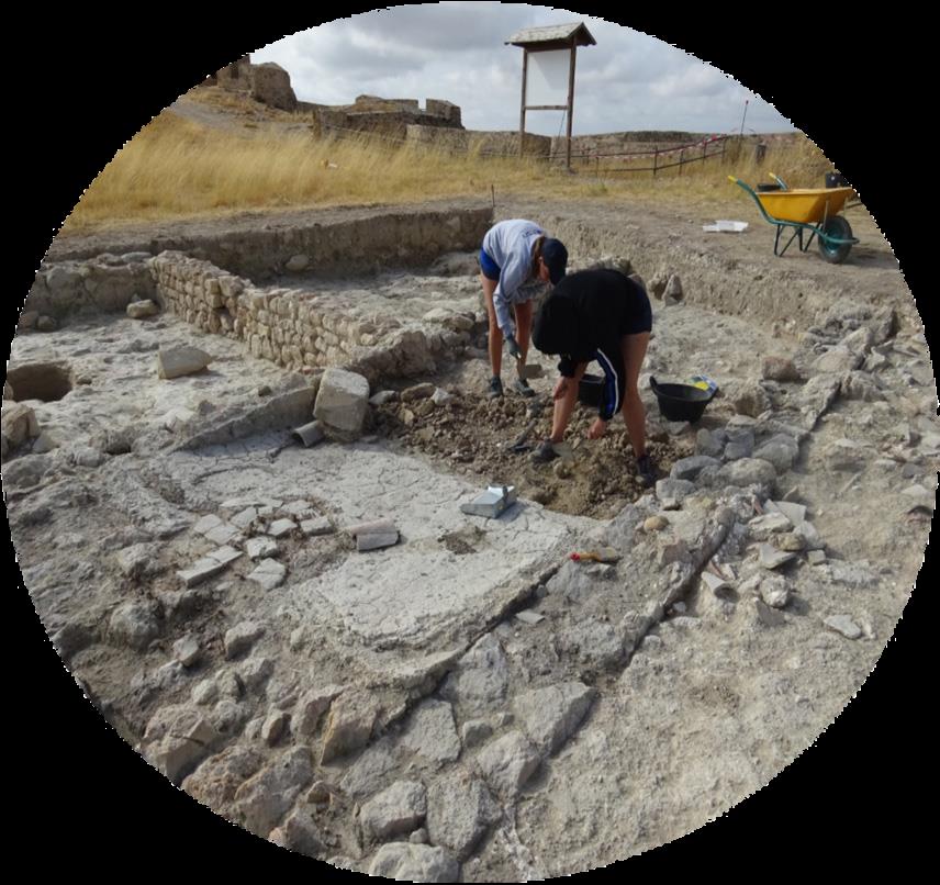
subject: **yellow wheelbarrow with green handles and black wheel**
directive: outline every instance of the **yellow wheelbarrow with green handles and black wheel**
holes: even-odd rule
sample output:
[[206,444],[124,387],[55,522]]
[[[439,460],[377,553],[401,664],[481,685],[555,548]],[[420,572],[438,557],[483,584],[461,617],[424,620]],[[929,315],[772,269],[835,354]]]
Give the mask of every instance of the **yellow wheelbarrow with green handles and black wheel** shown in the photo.
[[[798,242],[799,250],[806,251],[816,238],[820,255],[833,265],[841,265],[849,255],[849,250],[859,240],[852,236],[849,222],[838,213],[855,191],[852,188],[794,188],[791,190],[775,175],[771,175],[771,178],[776,181],[772,190],[754,191],[739,178],[728,176],[729,181],[753,198],[764,219],[776,227],[773,254],[783,255],[794,239]],[[793,234],[781,249],[780,237],[787,227],[793,228]],[[809,234],[808,238],[804,239],[804,233]]]

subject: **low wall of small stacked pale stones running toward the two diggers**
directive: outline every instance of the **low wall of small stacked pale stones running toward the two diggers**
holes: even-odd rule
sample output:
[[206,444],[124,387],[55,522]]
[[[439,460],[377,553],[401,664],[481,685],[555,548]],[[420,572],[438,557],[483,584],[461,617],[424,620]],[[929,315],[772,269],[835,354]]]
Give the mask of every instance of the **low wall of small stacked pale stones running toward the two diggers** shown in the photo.
[[328,296],[260,288],[182,253],[163,253],[150,269],[164,310],[293,371],[339,366],[370,382],[406,378],[432,371],[445,350],[457,352],[471,340],[466,327],[410,327],[392,316],[351,316]]

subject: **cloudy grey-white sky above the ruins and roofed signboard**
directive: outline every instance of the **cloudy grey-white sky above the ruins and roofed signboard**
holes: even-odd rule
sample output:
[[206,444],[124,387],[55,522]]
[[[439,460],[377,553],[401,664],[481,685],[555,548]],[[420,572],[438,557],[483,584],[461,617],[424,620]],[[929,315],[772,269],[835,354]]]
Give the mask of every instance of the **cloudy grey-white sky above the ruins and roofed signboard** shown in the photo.
[[[786,132],[774,108],[715,67],[619,24],[524,3],[394,7],[312,27],[251,54],[291,75],[302,101],[351,104],[356,96],[427,98],[460,105],[473,130],[518,130],[523,27],[583,21],[596,46],[579,48],[574,134],[627,130]],[[563,133],[563,113],[530,111],[526,130]]]

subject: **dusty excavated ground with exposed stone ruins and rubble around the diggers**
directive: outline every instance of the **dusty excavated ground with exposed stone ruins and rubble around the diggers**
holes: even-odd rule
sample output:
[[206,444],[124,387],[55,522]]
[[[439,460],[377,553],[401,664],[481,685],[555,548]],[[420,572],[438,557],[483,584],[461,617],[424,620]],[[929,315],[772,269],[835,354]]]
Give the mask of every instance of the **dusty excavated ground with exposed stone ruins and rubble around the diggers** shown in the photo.
[[[935,506],[922,322],[852,213],[838,265],[609,201],[54,242],[3,492],[102,736],[245,840],[416,882],[604,866],[761,789],[864,697]],[[478,255],[506,219],[649,293],[654,484],[586,402],[533,458],[557,357],[529,350],[523,396],[504,356],[489,395]],[[674,419],[653,379],[714,395]]]

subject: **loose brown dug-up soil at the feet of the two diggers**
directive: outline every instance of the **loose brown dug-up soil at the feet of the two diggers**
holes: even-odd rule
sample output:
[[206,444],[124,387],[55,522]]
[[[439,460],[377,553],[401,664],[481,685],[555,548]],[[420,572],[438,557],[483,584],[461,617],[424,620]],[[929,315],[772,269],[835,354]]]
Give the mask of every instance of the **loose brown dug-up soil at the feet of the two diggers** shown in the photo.
[[[451,389],[451,399],[388,402],[377,408],[374,432],[419,452],[447,470],[483,479],[481,484],[515,485],[523,497],[550,509],[595,519],[615,516],[647,490],[636,472],[623,419],[615,417],[602,439],[589,440],[597,413],[579,404],[566,435],[573,460],[549,464],[531,460],[535,447],[551,427],[551,397],[530,400]],[[514,444],[519,444],[515,449]],[[648,441],[661,477],[673,462],[692,453],[687,440],[657,433]]]

